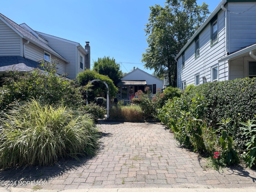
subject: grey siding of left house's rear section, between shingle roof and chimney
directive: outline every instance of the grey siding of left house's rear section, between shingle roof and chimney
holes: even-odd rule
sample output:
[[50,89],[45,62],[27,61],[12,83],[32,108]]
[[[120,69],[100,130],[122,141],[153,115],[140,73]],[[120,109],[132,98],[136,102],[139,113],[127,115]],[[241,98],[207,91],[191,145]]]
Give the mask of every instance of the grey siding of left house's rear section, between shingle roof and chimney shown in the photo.
[[68,74],[69,78],[74,79],[76,77],[76,45],[44,36],[42,33],[40,35],[48,41],[51,48],[69,61],[69,63],[66,63],[65,73]]

